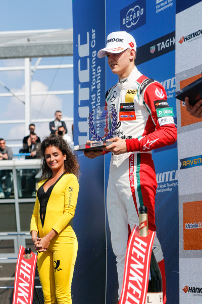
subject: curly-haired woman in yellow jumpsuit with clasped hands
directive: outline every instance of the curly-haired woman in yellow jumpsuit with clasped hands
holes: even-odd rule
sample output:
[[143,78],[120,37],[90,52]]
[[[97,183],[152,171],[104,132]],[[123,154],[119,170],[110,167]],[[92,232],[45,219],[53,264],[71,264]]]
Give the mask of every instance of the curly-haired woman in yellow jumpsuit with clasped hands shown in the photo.
[[59,135],[46,137],[41,151],[43,180],[38,185],[30,232],[38,251],[44,304],[72,304],[71,282],[78,243],[71,222],[79,190],[79,165]]

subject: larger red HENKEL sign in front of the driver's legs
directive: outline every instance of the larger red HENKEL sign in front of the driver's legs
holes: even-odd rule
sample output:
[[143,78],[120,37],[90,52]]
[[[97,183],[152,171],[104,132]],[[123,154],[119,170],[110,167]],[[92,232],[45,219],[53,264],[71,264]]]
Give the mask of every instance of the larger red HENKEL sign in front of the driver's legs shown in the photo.
[[146,237],[140,237],[139,227],[134,226],[127,245],[120,304],[145,303],[155,235],[148,230]]

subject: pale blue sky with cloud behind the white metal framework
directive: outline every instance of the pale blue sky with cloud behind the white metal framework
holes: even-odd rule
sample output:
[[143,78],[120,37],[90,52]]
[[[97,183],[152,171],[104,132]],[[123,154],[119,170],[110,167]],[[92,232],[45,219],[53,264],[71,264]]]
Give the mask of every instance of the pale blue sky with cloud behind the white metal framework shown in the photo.
[[[0,32],[72,28],[72,0],[2,1],[0,14]],[[34,65],[36,60],[37,58],[32,59],[32,65]],[[42,58],[40,65],[65,63],[73,63],[73,57]],[[0,60],[0,66],[12,65],[24,65],[24,60]],[[22,91],[24,72],[0,71],[0,81],[14,92]],[[36,70],[32,78],[32,89],[34,91],[73,90],[73,69]],[[7,93],[7,91],[0,86],[0,93]],[[16,98],[1,97],[0,104],[0,120],[24,119],[24,105]],[[42,108],[41,104],[43,104]],[[73,95],[35,97],[32,99],[32,106],[32,119],[54,119],[54,112],[57,109],[63,111],[63,117],[73,117]],[[40,108],[41,110],[39,111]],[[71,125],[68,128],[69,135],[71,135]],[[0,137],[4,137],[7,143],[12,138],[23,138],[28,134],[28,130],[25,133],[23,124],[0,124]],[[36,133],[40,137],[48,135],[48,124],[37,123]]]

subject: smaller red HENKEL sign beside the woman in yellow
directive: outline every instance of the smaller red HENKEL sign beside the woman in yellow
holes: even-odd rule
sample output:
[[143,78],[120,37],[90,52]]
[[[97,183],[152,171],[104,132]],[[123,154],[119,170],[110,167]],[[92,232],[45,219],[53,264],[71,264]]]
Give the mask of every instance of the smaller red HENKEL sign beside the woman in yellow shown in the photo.
[[25,248],[20,246],[16,264],[13,304],[32,304],[36,260],[37,255],[33,252],[30,259],[25,259]]

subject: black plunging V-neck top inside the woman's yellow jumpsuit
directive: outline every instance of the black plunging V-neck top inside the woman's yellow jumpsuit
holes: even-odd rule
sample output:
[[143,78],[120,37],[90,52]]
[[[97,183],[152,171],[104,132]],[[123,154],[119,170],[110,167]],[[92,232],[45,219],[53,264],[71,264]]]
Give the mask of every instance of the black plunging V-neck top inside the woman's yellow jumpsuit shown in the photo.
[[37,197],[38,197],[39,204],[40,204],[40,219],[41,219],[42,227],[43,227],[44,220],[45,220],[46,206],[47,206],[49,197],[51,196],[51,193],[52,193],[52,190],[53,190],[55,184],[61,179],[61,177],[64,174],[66,174],[66,172],[64,172],[53,185],[49,186],[49,188],[47,189],[46,192],[43,189],[43,185],[49,180],[49,178],[38,188]]

